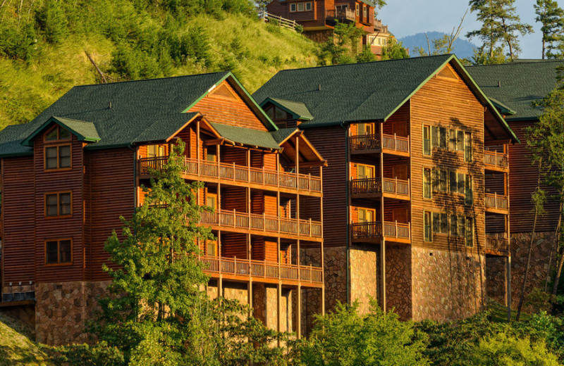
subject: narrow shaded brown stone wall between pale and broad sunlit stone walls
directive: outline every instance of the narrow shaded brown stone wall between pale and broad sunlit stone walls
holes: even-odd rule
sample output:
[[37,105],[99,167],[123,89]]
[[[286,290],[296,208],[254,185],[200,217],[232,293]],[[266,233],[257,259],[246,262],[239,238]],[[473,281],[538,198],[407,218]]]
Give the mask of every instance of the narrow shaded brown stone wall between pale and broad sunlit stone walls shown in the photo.
[[412,253],[410,246],[386,244],[386,310],[401,320],[412,317]]

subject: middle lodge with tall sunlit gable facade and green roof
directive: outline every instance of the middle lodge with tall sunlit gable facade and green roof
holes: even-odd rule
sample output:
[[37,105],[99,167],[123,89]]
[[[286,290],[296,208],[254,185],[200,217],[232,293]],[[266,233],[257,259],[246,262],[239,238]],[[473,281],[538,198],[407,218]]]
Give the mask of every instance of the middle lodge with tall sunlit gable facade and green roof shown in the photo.
[[253,96],[327,159],[328,310],[369,296],[404,319],[482,310],[486,255],[508,263],[518,139],[458,58],[283,70]]

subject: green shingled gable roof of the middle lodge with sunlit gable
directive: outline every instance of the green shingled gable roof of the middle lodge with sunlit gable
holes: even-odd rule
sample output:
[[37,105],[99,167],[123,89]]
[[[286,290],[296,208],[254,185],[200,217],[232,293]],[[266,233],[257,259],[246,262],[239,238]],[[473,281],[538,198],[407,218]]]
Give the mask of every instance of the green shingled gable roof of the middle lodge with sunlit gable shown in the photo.
[[314,119],[300,123],[300,128],[386,121],[447,63],[460,73],[477,99],[491,108],[505,132],[518,141],[454,55],[282,70],[253,96],[259,103],[269,98],[304,103]]

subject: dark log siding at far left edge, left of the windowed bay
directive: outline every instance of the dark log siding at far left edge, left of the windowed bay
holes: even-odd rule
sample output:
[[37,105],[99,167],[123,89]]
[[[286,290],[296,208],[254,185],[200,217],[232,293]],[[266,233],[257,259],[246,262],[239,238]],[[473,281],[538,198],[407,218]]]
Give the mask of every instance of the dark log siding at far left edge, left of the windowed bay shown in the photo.
[[2,286],[35,282],[33,158],[2,159]]

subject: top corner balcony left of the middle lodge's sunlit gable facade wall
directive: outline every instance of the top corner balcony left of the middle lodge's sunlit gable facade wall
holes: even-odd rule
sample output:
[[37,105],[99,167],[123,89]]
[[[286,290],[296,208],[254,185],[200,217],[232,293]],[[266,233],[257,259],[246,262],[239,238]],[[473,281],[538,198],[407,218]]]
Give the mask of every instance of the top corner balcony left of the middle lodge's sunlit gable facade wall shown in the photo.
[[362,134],[349,138],[350,153],[390,153],[410,156],[410,138],[395,134]]

